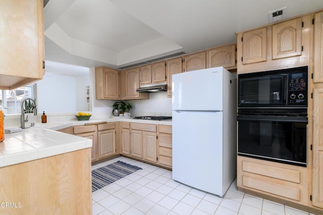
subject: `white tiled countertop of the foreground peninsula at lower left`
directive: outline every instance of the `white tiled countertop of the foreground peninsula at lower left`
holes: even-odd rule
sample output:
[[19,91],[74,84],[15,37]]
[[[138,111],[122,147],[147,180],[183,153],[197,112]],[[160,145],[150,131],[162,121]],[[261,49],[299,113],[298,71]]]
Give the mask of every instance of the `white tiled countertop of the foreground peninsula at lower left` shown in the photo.
[[92,147],[92,140],[45,128],[6,133],[0,142],[0,167]]

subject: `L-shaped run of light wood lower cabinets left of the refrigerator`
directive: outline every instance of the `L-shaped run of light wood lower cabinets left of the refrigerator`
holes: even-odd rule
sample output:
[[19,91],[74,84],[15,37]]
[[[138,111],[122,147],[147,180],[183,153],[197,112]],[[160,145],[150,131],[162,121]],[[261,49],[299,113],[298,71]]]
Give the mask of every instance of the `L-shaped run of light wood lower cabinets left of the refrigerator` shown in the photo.
[[171,125],[117,123],[79,125],[58,131],[92,139],[92,162],[121,154],[172,168]]

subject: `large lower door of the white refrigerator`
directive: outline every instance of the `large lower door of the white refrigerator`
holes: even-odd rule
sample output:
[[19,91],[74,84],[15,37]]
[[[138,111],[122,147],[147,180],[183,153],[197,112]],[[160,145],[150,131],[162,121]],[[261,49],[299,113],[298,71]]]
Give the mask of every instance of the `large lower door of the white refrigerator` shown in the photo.
[[173,179],[223,196],[223,112],[172,114]]

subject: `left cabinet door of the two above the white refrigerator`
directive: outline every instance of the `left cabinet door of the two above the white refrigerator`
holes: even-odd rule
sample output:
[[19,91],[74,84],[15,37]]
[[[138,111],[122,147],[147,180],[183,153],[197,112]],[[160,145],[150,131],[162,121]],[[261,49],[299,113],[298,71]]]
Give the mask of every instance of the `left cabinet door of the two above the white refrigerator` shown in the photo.
[[184,57],[184,71],[206,68],[206,52],[186,55]]

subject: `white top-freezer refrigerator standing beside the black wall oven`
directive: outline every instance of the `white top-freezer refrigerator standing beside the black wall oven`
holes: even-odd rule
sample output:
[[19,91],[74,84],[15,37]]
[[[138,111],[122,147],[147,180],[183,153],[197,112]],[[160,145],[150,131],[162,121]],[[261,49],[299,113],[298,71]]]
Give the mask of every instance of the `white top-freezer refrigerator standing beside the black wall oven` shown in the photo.
[[173,179],[223,197],[236,177],[236,74],[213,67],[172,80]]

